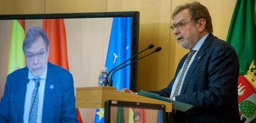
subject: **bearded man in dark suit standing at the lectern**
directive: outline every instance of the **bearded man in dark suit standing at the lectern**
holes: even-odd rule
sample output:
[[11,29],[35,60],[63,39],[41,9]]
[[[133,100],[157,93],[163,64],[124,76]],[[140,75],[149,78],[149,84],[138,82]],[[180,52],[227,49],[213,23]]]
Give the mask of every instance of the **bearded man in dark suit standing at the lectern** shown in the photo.
[[178,44],[190,52],[168,87],[155,93],[194,106],[185,113],[173,111],[174,122],[239,122],[235,50],[213,36],[208,9],[199,2],[176,7],[172,18]]

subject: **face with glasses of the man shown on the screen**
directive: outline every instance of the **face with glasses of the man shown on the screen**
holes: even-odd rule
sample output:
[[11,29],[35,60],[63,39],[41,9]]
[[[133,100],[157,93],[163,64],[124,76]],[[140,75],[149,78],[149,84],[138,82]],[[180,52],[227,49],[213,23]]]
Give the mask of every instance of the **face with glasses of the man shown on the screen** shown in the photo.
[[33,44],[25,50],[26,65],[34,77],[41,76],[48,62],[48,50],[43,38],[38,37]]

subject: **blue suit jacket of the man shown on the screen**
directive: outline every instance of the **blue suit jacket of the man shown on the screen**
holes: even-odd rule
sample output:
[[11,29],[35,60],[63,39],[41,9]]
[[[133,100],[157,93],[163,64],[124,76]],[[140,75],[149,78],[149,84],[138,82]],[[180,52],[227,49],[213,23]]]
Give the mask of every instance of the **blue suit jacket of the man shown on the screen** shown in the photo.
[[[0,103],[0,122],[23,122],[28,68],[7,76]],[[77,122],[74,82],[66,69],[48,63],[42,122]],[[51,86],[51,87],[50,87]]]

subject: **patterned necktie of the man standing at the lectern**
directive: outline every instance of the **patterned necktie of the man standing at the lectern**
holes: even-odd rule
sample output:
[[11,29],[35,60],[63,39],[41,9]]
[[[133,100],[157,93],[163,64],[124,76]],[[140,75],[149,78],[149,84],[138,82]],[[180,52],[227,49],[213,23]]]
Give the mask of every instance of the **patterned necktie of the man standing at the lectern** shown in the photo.
[[179,77],[179,81],[177,82],[176,89],[174,90],[173,97],[175,97],[179,94],[179,90],[181,89],[181,83],[182,83],[184,74],[185,74],[185,72],[187,70],[187,66],[189,66],[189,62],[194,54],[195,54],[195,50],[190,50],[189,55],[187,56],[187,60],[185,62],[184,68],[182,69],[181,76]]

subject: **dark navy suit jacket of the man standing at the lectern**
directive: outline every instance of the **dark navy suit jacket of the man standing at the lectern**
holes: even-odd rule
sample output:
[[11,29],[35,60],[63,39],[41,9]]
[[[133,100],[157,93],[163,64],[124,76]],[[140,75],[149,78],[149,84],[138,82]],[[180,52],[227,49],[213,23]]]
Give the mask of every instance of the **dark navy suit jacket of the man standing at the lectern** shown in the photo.
[[[174,79],[158,92],[170,97],[173,83],[187,55],[177,66]],[[237,79],[239,63],[233,47],[209,34],[187,71],[177,101],[194,108],[186,113],[176,111],[176,122],[238,122]]]

